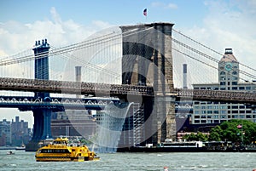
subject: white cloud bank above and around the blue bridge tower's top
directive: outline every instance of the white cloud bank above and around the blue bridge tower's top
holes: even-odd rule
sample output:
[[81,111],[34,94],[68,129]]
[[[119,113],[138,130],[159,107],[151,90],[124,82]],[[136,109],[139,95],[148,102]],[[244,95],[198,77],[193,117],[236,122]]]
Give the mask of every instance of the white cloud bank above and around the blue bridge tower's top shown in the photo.
[[[37,20],[33,23],[8,21],[0,25],[0,52],[12,55],[32,48],[36,40],[47,38],[49,44],[57,47],[83,41],[92,33],[107,28],[103,21],[92,21],[90,26],[82,26],[73,20],[61,20],[55,8],[50,9],[51,19]],[[0,57],[0,58],[1,58]]]

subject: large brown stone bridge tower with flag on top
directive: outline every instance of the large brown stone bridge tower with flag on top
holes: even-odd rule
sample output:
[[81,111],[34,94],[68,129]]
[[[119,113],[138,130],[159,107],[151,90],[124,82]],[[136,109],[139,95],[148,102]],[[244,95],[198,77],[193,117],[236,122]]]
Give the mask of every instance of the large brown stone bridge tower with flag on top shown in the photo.
[[174,88],[172,26],[171,23],[120,26],[123,33],[122,84],[154,87],[153,98],[142,98],[145,143],[154,145],[176,138],[175,99],[171,94]]

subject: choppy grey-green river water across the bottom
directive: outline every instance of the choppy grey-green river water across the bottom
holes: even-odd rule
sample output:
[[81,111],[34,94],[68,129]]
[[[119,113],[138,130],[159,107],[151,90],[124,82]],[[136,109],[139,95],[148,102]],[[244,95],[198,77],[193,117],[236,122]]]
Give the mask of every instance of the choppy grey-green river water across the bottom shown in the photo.
[[0,170],[160,170],[168,171],[252,171],[256,168],[256,152],[199,153],[102,153],[100,161],[36,162],[34,152],[0,151]]

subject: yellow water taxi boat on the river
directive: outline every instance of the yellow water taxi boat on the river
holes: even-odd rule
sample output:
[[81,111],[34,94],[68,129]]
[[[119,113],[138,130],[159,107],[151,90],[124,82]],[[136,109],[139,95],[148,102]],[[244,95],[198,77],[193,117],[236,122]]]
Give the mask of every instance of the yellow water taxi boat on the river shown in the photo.
[[67,138],[57,138],[36,152],[37,162],[83,162],[99,160],[86,145],[73,145]]

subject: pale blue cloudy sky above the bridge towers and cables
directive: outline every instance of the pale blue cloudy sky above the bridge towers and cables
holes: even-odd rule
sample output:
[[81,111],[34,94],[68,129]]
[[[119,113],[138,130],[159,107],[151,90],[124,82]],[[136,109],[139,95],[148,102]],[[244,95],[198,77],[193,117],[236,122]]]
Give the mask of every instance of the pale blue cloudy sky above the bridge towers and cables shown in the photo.
[[[2,0],[0,60],[43,38],[61,47],[111,26],[171,22],[175,30],[218,52],[233,48],[239,62],[255,68],[255,20],[255,0]],[[0,110],[0,120],[17,115],[32,127],[32,113]]]

